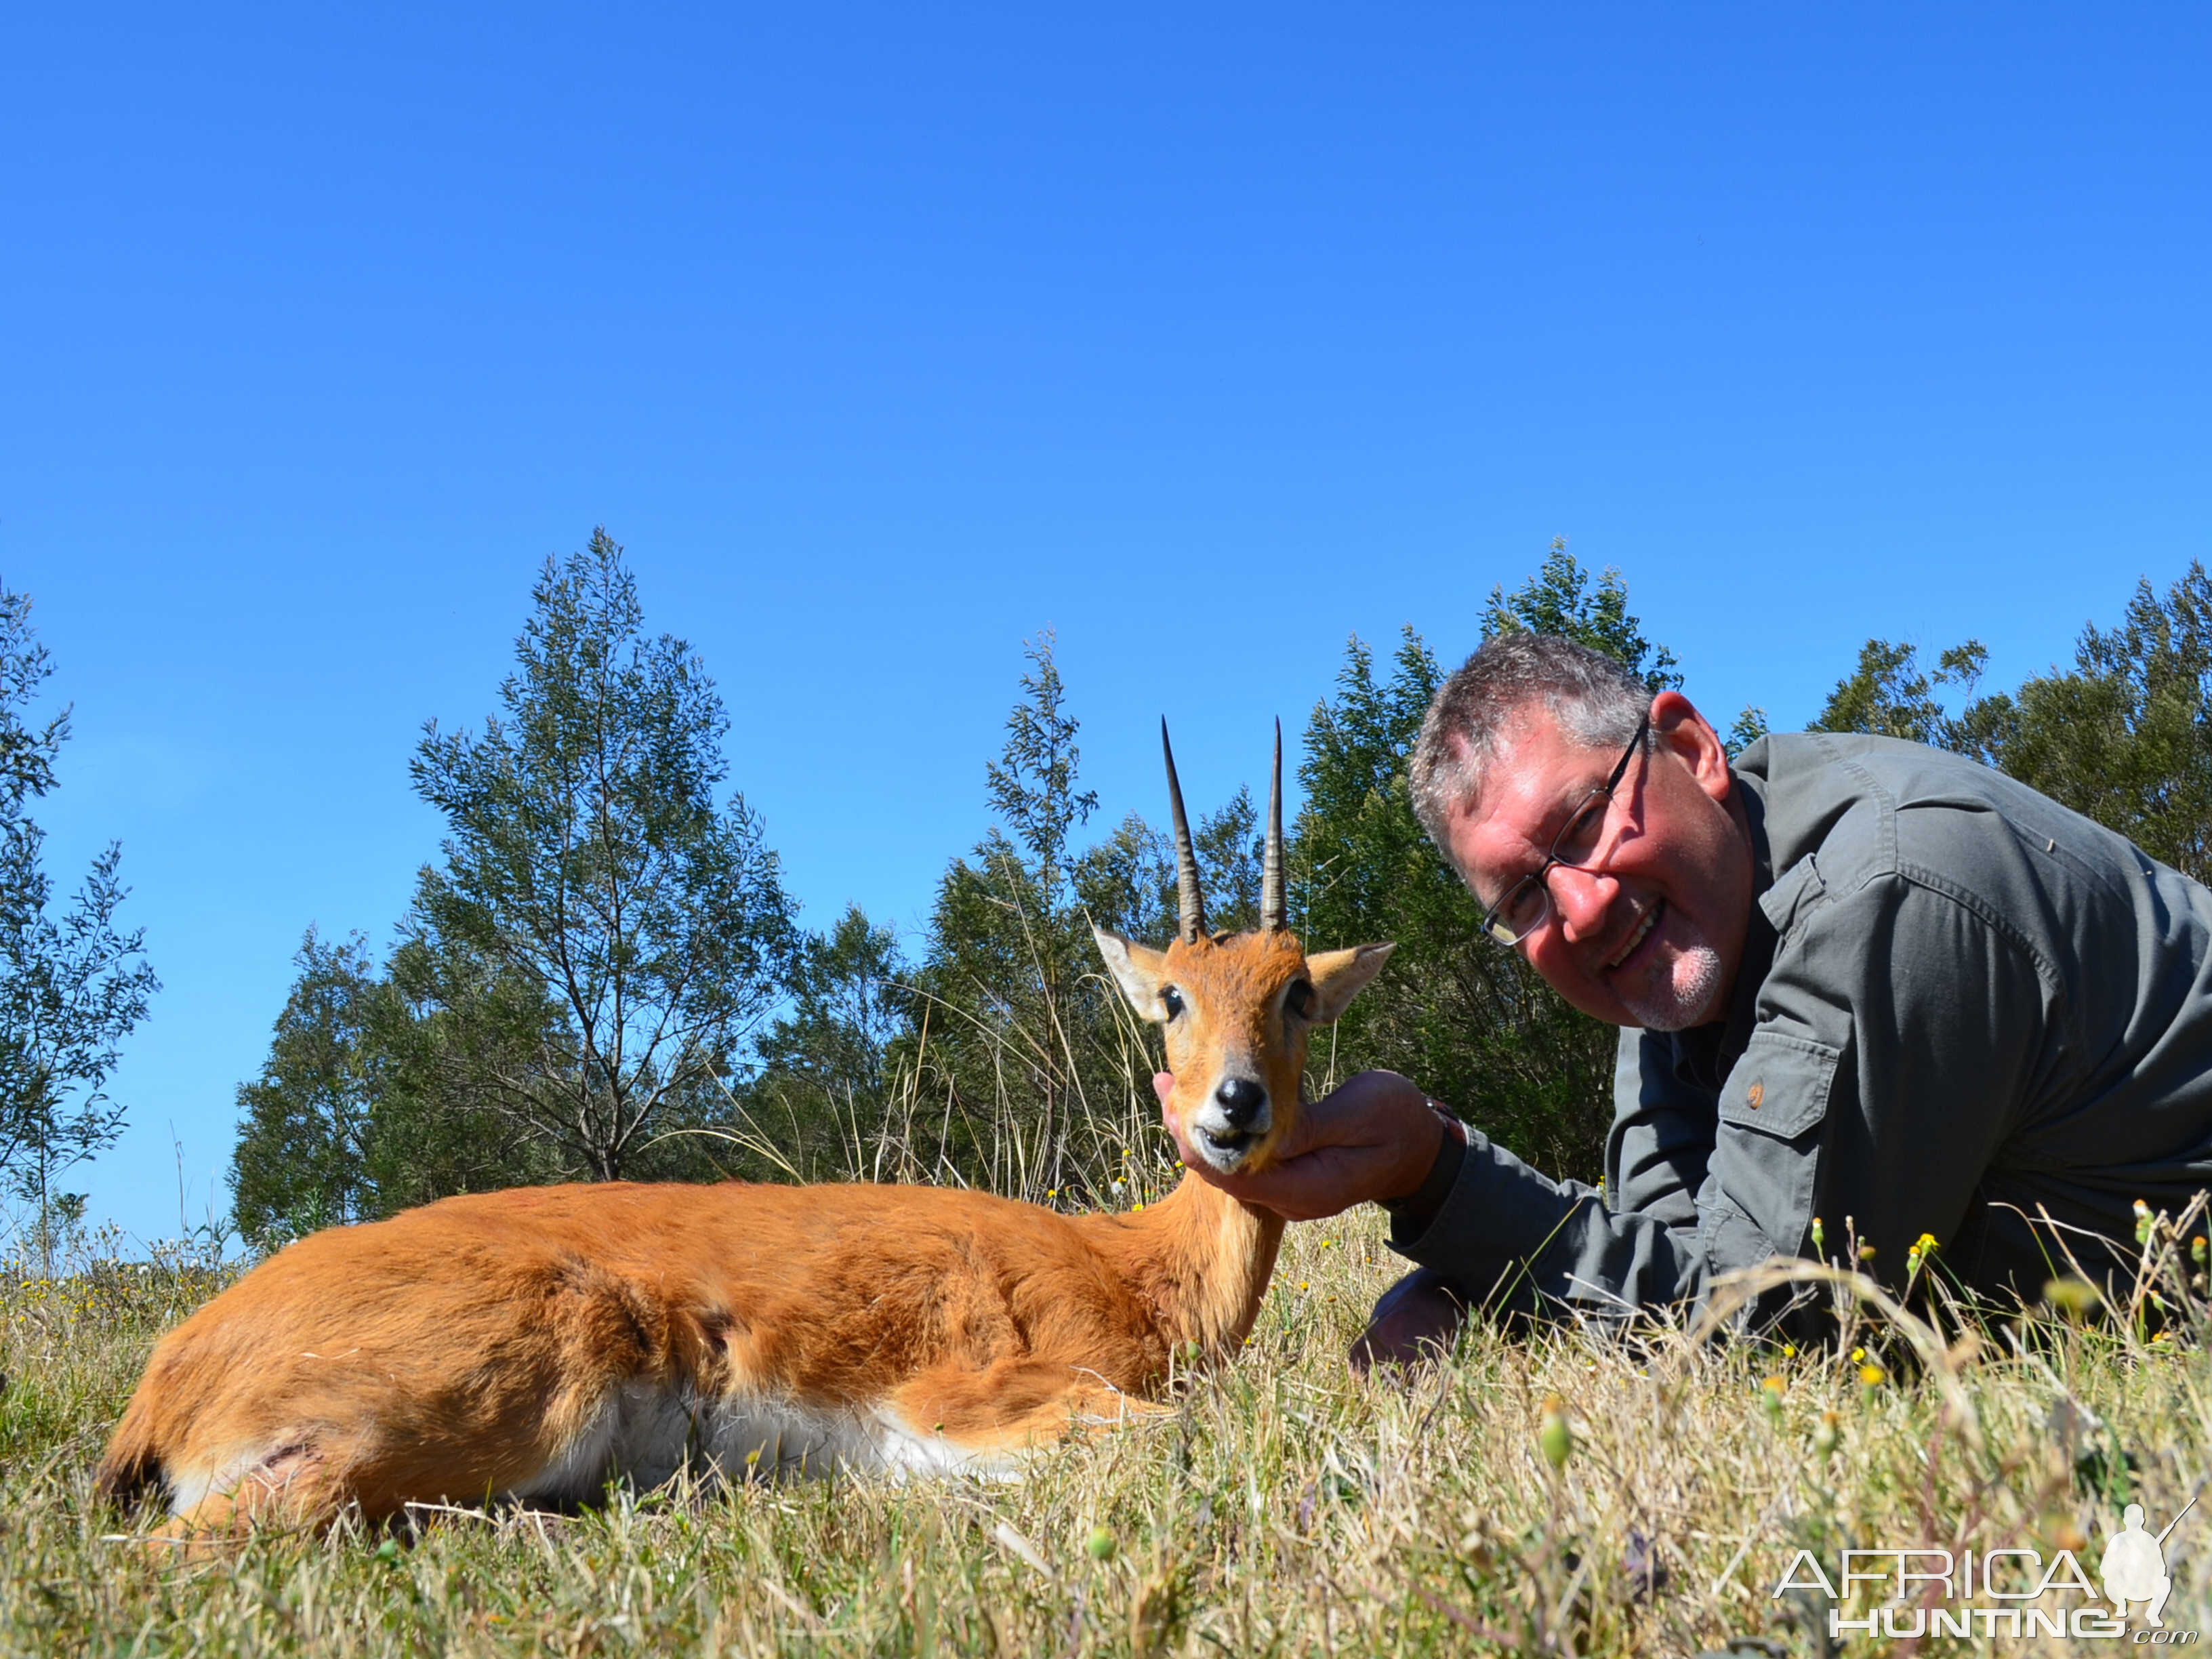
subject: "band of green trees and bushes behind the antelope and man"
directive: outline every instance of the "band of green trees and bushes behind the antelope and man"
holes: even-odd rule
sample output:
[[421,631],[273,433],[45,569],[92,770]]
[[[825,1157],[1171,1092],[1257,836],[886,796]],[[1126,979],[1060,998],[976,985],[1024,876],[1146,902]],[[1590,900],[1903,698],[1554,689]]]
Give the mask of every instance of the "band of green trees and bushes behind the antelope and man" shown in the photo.
[[[1513,628],[1582,639],[1655,692],[1681,684],[1621,575],[1590,577],[1562,542],[1493,591],[1484,637]],[[1916,646],[1869,639],[1814,730],[1973,754],[2212,874],[2203,566],[2086,628],[2068,670],[1978,695],[1986,655],[1966,641],[1924,670]],[[1475,931],[1480,907],[1413,821],[1407,759],[1442,672],[1411,628],[1387,657],[1352,639],[1294,739],[1292,927],[1314,949],[1398,942],[1310,1082],[1402,1071],[1540,1168],[1595,1179],[1615,1033]],[[239,1091],[248,1237],[515,1181],[803,1179],[858,1148],[883,1172],[1106,1197],[1088,1155],[1144,1135],[1159,1051],[1099,973],[1091,925],[1168,938],[1175,869],[1144,814],[1093,825],[1051,633],[1029,641],[982,765],[991,830],[947,865],[911,951],[856,909],[823,933],[792,925],[763,827],[741,796],[712,799],[712,681],[644,633],[604,531],[546,564],[500,697],[480,734],[422,739],[416,787],[451,834],[383,969],[358,938],[310,931],[301,949],[263,1075]],[[1743,710],[1728,741],[1763,730]],[[1201,810],[1194,838],[1212,925],[1250,925],[1252,790]]]

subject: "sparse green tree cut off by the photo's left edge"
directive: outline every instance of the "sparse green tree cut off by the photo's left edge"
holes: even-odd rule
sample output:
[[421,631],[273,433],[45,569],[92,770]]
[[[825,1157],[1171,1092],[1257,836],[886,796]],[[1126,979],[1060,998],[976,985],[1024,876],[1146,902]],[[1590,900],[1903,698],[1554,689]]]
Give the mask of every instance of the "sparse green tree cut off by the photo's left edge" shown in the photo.
[[58,1181],[122,1135],[106,1084],[161,989],[144,931],[115,920],[128,896],[122,847],[93,858],[66,905],[46,874],[46,836],[27,807],[55,787],[69,710],[42,726],[24,710],[51,675],[29,595],[0,586],[0,1177],[33,1206],[49,1254],[55,1221],[84,1208]]

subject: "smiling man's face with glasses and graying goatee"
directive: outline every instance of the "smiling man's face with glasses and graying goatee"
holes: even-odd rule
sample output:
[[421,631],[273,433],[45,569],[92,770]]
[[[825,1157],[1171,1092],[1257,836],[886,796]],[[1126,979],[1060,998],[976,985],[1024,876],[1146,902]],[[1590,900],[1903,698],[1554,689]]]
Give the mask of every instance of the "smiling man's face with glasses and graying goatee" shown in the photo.
[[[1491,905],[1533,874],[1606,781],[1617,748],[1584,748],[1542,703],[1447,823],[1451,854]],[[1743,960],[1752,849],[1730,805],[1721,739],[1681,692],[1652,701],[1652,748],[1628,761],[1597,838],[1597,867],[1553,865],[1551,914],[1520,951],[1584,1013],[1683,1031],[1717,1020]]]

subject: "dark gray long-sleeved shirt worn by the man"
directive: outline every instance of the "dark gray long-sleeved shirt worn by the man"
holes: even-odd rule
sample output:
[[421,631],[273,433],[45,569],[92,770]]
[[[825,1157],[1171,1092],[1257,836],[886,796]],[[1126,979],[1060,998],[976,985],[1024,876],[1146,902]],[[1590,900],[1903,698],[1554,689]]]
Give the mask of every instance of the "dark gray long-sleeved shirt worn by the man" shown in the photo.
[[1918,743],[1767,737],[1734,779],[1759,887],[1728,1018],[1621,1033],[1604,1192],[1469,1133],[1402,1254],[1475,1298],[1657,1307],[1814,1254],[1814,1217],[1840,1256],[1849,1217],[1882,1279],[1927,1232],[2035,1298],[2059,1241],[2110,1272],[2137,1199],[2212,1188],[2212,891]]

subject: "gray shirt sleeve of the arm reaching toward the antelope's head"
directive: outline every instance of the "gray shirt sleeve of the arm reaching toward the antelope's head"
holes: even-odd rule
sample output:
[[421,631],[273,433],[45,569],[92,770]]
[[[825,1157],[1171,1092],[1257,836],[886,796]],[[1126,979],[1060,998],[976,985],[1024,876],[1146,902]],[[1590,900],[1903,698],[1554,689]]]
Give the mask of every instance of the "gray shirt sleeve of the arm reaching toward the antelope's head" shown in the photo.
[[1882,874],[1792,891],[1756,1024],[1719,1095],[1626,1033],[1608,1146],[1613,1208],[1482,1135],[1429,1225],[1394,1239],[1475,1298],[1626,1312],[1703,1298],[1725,1272],[1809,1250],[1843,1217],[1898,1276],[1920,1232],[1955,1237],[2039,1048],[2033,962],[1960,896]]

